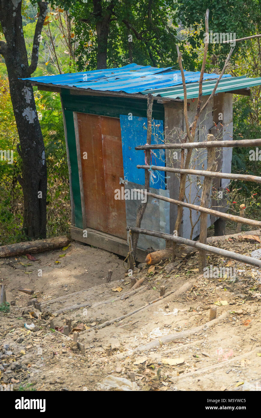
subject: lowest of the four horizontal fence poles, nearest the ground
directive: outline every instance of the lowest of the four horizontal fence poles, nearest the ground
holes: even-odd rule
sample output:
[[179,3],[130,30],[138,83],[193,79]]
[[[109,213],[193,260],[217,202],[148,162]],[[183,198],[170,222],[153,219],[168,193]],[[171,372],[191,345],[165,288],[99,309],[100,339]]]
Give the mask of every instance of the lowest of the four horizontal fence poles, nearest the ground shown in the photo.
[[250,265],[255,265],[261,267],[261,260],[257,258],[248,257],[247,255],[238,254],[237,252],[223,250],[222,248],[212,247],[211,245],[202,244],[198,241],[188,240],[187,238],[177,237],[176,235],[164,234],[162,232],[150,231],[148,229],[141,229],[135,227],[127,227],[127,230],[132,232],[137,232],[138,234],[150,235],[151,237],[162,238],[163,240],[170,240],[177,242],[178,244],[188,245],[189,247],[194,247],[199,250],[205,250],[211,252],[212,254],[221,255],[223,257],[231,258],[231,260],[236,260],[241,263],[246,263]]

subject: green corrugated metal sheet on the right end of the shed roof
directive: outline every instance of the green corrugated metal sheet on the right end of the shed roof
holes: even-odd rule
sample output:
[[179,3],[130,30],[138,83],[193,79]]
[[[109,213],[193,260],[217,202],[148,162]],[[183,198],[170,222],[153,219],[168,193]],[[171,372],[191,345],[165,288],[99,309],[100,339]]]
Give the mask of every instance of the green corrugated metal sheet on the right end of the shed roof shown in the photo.
[[[202,95],[207,96],[212,93],[217,80],[203,81],[202,83]],[[246,76],[241,77],[229,77],[221,79],[218,83],[216,93],[230,92],[233,90],[246,89],[247,87],[258,86],[261,84],[261,77],[248,78]],[[191,83],[187,86],[187,98],[193,99],[198,97],[199,84]],[[172,99],[184,99],[184,91],[182,86],[168,87],[165,89],[154,89],[143,92],[143,94],[151,93],[154,96],[169,97]]]

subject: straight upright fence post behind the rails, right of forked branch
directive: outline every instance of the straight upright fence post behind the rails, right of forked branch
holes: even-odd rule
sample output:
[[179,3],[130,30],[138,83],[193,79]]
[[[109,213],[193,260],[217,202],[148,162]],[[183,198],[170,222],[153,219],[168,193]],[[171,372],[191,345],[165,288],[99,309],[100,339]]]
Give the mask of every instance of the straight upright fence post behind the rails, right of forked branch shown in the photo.
[[[214,135],[207,134],[207,141],[215,140]],[[213,171],[215,167],[215,148],[207,149],[207,171]],[[205,177],[200,206],[208,208],[210,193],[211,193],[212,178]],[[202,244],[207,244],[207,214],[200,214],[200,242]],[[203,268],[206,267],[206,252],[199,251],[199,272],[202,273]]]

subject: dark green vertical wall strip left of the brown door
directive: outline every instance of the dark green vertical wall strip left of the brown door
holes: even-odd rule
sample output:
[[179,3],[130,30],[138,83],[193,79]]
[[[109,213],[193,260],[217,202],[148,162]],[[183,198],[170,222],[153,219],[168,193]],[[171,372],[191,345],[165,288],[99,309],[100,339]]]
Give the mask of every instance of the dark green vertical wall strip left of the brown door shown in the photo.
[[70,112],[64,109],[64,117],[66,121],[68,150],[69,150],[71,170],[72,170],[72,194],[73,194],[73,199],[74,199],[75,226],[77,228],[83,228],[82,204],[81,204],[76,141],[75,141],[75,133],[74,133],[73,112]]

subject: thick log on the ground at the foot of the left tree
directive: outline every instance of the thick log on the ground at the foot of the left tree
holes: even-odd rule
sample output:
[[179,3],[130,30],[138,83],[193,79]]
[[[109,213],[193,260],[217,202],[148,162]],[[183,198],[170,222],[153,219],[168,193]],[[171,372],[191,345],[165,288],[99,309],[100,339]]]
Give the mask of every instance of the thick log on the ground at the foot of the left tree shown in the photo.
[[0,247],[0,257],[12,257],[31,252],[44,252],[55,250],[68,245],[70,242],[66,236],[47,238],[46,240],[35,240],[18,242],[17,244],[3,245]]

